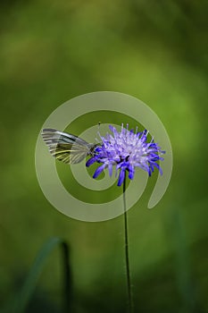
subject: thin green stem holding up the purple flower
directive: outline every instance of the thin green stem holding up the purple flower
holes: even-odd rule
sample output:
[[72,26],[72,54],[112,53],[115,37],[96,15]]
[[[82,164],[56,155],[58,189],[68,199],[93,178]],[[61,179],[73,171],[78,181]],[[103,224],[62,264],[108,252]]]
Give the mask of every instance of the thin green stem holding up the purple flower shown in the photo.
[[133,300],[130,283],[130,268],[129,268],[129,237],[128,237],[128,221],[127,221],[127,204],[126,204],[126,174],[123,182],[123,207],[124,207],[124,240],[125,240],[125,261],[127,275],[127,292],[128,292],[128,309],[129,313],[133,313]]

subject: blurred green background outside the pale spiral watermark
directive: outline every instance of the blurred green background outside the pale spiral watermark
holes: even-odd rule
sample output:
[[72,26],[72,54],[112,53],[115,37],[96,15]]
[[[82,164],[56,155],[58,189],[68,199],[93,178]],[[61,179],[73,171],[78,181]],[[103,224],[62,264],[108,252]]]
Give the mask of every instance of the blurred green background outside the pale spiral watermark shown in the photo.
[[[2,308],[38,250],[60,236],[71,246],[73,312],[126,311],[122,216],[96,224],[63,216],[34,164],[38,132],[57,106],[112,90],[158,114],[174,154],[162,201],[146,209],[153,179],[129,210],[135,311],[208,312],[207,13],[205,0],[1,3]],[[62,312],[61,266],[54,251],[27,312]]]

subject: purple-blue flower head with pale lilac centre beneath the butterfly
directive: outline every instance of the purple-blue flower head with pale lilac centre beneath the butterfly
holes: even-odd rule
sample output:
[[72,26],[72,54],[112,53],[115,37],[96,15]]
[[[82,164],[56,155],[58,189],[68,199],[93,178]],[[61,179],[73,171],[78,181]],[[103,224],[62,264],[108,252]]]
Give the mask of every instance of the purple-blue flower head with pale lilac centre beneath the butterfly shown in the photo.
[[97,146],[94,151],[94,156],[91,157],[86,166],[94,163],[102,164],[93,175],[96,178],[100,173],[108,168],[110,176],[112,176],[112,166],[116,165],[116,174],[119,172],[118,186],[121,186],[124,181],[126,172],[129,172],[129,179],[133,180],[135,167],[140,167],[145,170],[149,176],[154,172],[156,167],[162,174],[162,169],[158,165],[160,157],[165,151],[162,151],[154,139],[147,142],[148,131],[134,132],[121,126],[121,131],[116,131],[112,125],[109,129],[112,134],[107,133],[105,137],[101,137],[101,146]]

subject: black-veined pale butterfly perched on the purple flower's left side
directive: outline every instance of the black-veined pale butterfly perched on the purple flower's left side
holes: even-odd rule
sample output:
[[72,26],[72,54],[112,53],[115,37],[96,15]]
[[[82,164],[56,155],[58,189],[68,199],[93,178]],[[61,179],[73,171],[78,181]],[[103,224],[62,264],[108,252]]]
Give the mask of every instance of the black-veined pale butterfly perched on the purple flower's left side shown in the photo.
[[87,143],[71,133],[54,129],[46,128],[41,135],[52,156],[66,164],[78,164],[87,156],[94,156],[98,145]]

